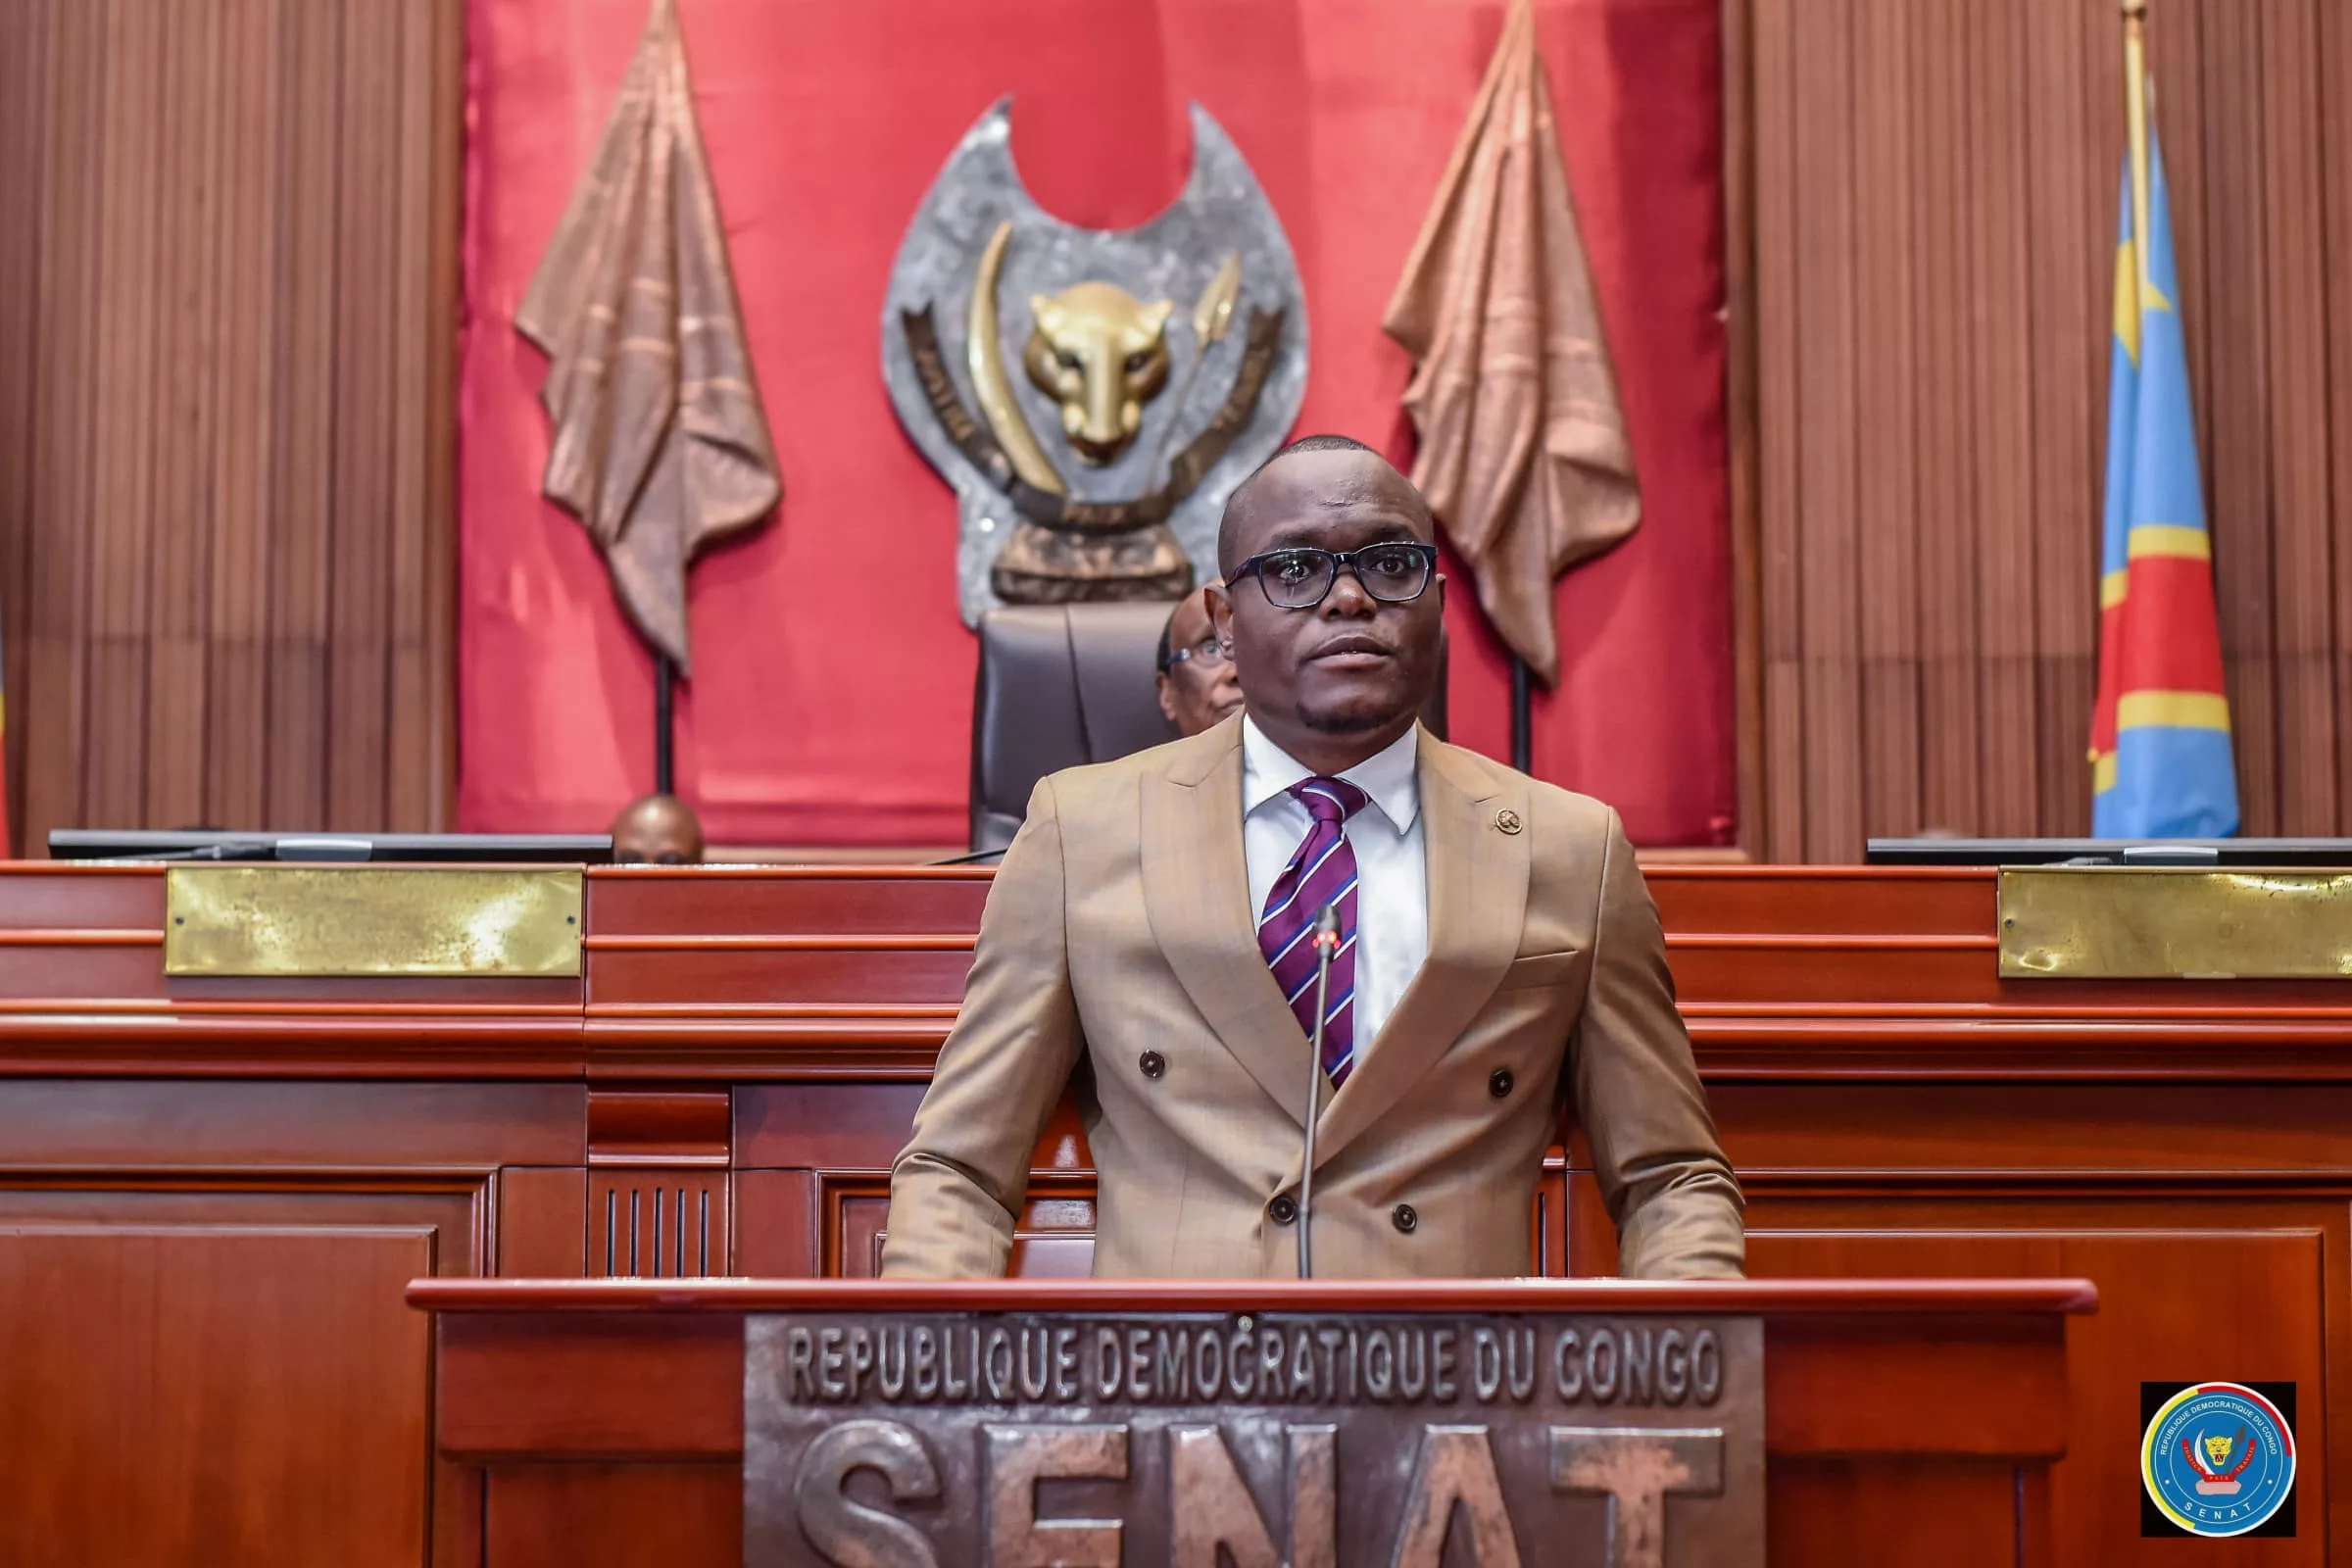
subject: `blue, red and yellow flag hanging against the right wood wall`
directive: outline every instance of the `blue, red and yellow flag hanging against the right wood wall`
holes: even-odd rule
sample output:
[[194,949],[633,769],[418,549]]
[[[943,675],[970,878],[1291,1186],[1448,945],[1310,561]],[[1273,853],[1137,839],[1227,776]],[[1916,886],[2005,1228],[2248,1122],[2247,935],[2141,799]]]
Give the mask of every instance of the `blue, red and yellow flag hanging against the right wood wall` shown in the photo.
[[2145,287],[2131,233],[2129,160],[2119,228],[2091,832],[2103,839],[2209,839],[2237,832],[2237,771],[2171,202],[2154,132],[2147,139]]

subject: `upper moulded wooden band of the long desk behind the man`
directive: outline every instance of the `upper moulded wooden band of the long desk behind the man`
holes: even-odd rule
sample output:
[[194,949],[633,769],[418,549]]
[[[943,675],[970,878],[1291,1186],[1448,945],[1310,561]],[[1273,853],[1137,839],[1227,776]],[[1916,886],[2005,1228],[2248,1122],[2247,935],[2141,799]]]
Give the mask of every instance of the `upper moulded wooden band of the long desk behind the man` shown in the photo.
[[[724,1084],[924,1079],[988,877],[597,872],[579,980],[169,980],[162,867],[12,865],[0,905],[26,924],[0,929],[0,1070],[543,1074],[628,1091],[616,1128],[659,1124],[661,1095],[699,1107],[684,1143],[600,1138],[684,1166],[722,1152]],[[2002,980],[1990,870],[1686,865],[1651,889],[1710,1084],[2352,1081],[2352,990],[2331,980]]]

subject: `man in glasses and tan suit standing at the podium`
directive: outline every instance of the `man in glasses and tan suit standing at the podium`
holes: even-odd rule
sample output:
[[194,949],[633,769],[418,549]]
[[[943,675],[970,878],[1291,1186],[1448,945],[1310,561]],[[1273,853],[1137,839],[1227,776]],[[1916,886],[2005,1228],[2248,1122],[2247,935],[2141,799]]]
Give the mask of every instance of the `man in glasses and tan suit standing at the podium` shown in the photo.
[[1529,1274],[1564,1110],[1628,1276],[1740,1272],[1738,1182],[1616,811],[1416,722],[1430,534],[1345,437],[1232,494],[1209,604],[1247,712],[1037,785],[891,1171],[884,1274],[1004,1272],[1073,1077],[1096,1274],[1296,1274],[1322,905],[1315,1274]]

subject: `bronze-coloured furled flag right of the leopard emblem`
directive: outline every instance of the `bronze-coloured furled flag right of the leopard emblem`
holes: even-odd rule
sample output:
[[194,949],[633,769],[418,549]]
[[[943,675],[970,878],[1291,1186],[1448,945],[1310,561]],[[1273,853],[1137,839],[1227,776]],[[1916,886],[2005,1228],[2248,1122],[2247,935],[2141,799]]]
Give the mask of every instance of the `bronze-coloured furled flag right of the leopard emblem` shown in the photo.
[[1517,0],[1381,322],[1421,367],[1414,484],[1496,632],[1559,682],[1552,581],[1642,522],[1536,12]]

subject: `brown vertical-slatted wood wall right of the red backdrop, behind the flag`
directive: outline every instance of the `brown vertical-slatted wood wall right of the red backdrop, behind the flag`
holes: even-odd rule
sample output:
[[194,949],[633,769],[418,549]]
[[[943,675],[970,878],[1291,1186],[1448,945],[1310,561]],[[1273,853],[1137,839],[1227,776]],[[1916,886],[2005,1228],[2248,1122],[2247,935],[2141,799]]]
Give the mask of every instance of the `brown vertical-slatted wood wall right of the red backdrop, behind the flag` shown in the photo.
[[[2089,832],[2117,5],[1729,5],[1755,849]],[[2352,5],[2150,12],[2244,832],[2343,835]]]

